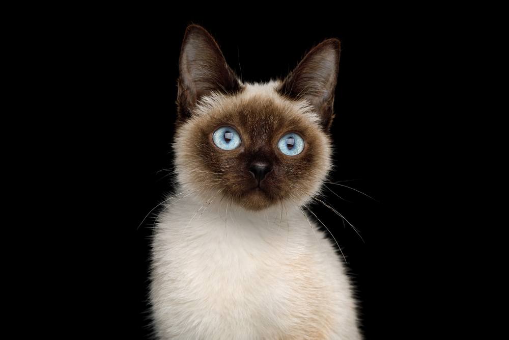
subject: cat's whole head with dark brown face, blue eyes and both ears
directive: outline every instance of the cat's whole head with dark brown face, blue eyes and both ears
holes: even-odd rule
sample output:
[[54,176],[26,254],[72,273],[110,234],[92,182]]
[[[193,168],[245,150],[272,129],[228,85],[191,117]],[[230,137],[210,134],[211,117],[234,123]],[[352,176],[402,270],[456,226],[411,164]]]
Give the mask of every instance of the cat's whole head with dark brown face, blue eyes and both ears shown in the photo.
[[203,200],[259,211],[301,205],[330,170],[340,42],[313,48],[283,81],[243,83],[202,27],[180,54],[174,150],[180,185]]

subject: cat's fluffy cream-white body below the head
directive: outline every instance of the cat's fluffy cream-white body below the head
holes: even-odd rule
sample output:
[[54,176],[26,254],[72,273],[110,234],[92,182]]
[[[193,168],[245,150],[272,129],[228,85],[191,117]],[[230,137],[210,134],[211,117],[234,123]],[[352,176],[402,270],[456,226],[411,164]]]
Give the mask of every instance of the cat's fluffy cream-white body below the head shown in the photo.
[[186,195],[168,202],[154,236],[159,338],[360,339],[340,257],[300,207],[281,216],[212,203],[202,214]]

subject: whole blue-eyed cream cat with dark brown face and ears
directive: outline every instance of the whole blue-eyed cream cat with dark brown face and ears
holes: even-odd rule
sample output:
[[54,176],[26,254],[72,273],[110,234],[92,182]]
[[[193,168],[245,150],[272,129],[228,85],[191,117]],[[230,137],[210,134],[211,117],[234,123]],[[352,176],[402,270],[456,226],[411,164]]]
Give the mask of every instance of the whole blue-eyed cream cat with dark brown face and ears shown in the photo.
[[177,97],[177,190],[152,243],[159,339],[360,339],[352,285],[303,210],[332,167],[340,41],[249,84],[190,25]]

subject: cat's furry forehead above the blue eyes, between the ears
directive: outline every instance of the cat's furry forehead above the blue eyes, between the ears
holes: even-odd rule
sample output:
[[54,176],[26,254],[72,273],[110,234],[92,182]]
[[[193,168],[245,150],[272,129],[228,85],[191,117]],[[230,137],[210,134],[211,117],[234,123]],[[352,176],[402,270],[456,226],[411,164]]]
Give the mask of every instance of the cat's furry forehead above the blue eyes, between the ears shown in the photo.
[[236,125],[251,135],[278,130],[319,128],[320,119],[305,100],[291,100],[276,92],[278,82],[244,84],[235,94],[212,94],[203,98],[195,114],[199,120],[217,126]]

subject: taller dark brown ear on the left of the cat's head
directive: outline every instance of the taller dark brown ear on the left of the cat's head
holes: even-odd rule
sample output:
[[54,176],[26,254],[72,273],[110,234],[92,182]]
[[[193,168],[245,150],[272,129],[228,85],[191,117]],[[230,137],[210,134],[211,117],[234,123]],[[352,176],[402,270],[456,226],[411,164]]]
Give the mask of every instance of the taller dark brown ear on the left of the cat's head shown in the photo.
[[214,38],[201,26],[186,29],[179,61],[178,120],[191,116],[197,101],[211,92],[234,93],[241,84]]

